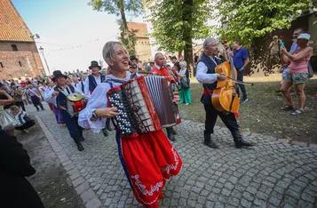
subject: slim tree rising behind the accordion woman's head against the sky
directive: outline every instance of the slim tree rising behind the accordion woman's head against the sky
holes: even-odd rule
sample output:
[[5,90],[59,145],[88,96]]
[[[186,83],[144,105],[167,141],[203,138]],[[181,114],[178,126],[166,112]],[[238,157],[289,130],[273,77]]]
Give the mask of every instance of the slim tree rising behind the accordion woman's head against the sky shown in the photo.
[[121,42],[125,45],[130,54],[136,54],[135,51],[135,32],[128,28],[125,13],[138,16],[143,12],[142,0],[91,0],[89,3],[94,10],[115,14],[120,25]]

